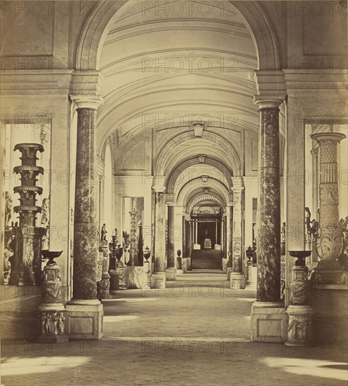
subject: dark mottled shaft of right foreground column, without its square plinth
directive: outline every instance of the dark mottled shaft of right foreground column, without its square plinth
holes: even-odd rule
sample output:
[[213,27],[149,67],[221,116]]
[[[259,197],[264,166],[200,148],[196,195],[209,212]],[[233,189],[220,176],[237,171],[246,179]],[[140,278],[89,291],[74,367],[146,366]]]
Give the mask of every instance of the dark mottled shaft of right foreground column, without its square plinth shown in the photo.
[[281,301],[281,203],[279,104],[259,105],[259,197],[257,206],[257,301]]

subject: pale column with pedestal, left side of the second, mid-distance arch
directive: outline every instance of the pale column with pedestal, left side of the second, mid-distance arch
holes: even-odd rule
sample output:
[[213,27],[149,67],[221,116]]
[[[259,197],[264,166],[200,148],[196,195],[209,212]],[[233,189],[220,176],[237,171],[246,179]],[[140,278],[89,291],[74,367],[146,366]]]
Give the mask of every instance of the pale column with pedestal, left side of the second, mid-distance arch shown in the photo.
[[166,288],[166,203],[163,197],[163,188],[154,188],[154,272],[151,277],[152,288]]

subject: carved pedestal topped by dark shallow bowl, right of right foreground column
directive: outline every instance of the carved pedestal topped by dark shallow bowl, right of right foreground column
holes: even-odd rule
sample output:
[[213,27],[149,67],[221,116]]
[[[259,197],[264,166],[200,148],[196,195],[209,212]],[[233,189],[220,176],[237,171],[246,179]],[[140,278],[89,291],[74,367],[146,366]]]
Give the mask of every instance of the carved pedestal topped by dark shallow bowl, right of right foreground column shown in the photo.
[[312,251],[289,251],[290,256],[297,258],[291,268],[292,282],[288,314],[287,346],[305,346],[312,340],[312,314],[314,309],[308,299],[308,267],[304,261]]

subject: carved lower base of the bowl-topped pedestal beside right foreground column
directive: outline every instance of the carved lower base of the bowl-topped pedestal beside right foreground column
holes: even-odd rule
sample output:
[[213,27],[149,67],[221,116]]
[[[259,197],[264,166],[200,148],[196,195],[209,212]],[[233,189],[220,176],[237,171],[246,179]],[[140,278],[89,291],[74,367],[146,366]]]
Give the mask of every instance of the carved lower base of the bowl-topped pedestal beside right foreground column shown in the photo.
[[312,314],[310,305],[289,305],[288,339],[286,346],[306,346],[312,340]]

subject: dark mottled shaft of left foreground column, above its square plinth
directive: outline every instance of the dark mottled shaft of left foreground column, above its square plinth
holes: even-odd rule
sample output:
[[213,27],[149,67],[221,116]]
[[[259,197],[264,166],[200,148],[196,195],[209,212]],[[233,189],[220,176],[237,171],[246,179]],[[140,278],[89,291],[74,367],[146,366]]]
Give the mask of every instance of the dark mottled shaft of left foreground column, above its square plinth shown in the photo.
[[73,300],[97,299],[96,110],[77,109]]

